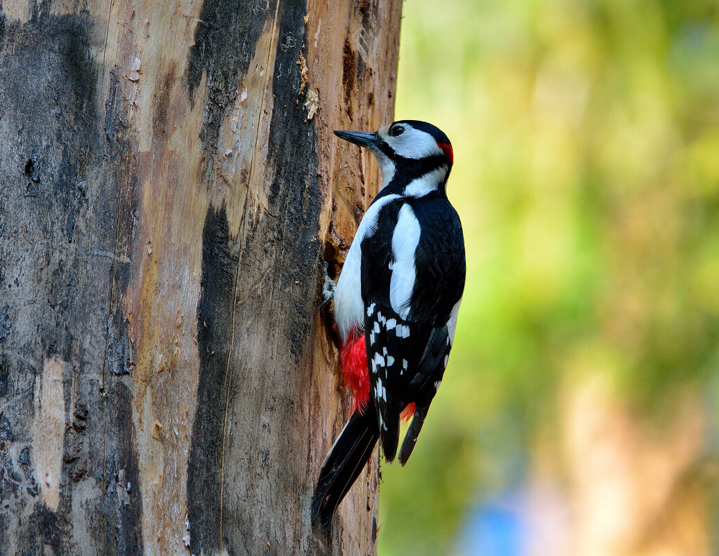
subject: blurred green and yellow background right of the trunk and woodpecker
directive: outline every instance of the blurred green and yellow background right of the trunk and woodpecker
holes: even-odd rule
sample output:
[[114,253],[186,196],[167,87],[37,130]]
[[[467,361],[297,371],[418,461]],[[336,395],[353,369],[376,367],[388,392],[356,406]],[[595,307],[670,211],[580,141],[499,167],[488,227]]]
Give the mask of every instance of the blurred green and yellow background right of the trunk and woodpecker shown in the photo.
[[406,0],[467,288],[380,556],[719,554],[719,5]]

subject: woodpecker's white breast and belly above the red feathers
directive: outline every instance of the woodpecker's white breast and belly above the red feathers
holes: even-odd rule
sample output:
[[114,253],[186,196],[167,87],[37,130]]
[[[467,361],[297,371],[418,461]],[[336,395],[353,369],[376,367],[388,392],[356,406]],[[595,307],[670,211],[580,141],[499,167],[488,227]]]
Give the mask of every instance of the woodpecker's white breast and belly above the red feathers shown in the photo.
[[334,292],[334,320],[339,328],[342,342],[347,341],[349,332],[354,327],[365,327],[365,304],[362,301],[362,240],[377,230],[377,217],[386,204],[399,199],[399,195],[387,195],[377,200],[367,209],[362,222],[359,222],[357,233],[349,247],[347,259],[344,261],[342,273],[337,281]]

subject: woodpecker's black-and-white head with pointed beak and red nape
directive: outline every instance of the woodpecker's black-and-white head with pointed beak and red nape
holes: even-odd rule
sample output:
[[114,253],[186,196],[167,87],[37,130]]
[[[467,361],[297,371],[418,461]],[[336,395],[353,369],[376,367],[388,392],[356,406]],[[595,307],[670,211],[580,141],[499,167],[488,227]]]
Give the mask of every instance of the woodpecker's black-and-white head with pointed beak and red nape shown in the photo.
[[[452,145],[444,132],[427,122],[400,120],[377,132],[336,131],[341,139],[367,147],[382,169],[383,187],[392,183],[406,188],[420,180],[426,189],[430,183],[444,188],[452,170]],[[416,188],[415,184],[415,188]],[[412,194],[408,191],[408,194]]]

